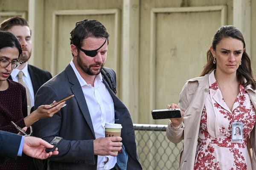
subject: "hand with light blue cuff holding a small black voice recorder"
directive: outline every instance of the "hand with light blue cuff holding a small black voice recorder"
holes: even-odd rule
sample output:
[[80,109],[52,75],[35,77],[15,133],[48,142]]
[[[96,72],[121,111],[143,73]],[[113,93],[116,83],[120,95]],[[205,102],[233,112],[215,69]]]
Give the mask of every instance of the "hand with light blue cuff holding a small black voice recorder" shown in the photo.
[[56,148],[53,152],[47,153],[45,151],[46,147],[52,148],[53,145],[40,138],[25,136],[23,153],[25,153],[27,156],[37,159],[47,159],[52,155],[58,155],[58,148]]

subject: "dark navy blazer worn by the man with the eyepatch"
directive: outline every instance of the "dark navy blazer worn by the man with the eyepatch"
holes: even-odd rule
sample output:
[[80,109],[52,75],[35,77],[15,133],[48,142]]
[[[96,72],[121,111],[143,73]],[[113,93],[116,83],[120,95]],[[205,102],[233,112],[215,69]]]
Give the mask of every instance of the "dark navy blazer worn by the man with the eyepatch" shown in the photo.
[[[115,72],[110,68],[107,69],[116,83]],[[127,170],[142,170],[137,158],[130,113],[111,91],[105,79],[103,82],[113,98],[115,122],[122,124],[122,143],[128,153]],[[58,145],[58,156],[51,156],[48,160],[50,170],[96,170],[97,156],[93,152],[95,139],[93,125],[81,85],[71,65],[41,86],[35,96],[35,109],[71,94],[75,97],[67,100],[67,106],[61,108],[52,118],[41,119],[32,125],[33,133],[47,142],[51,142],[54,136],[63,138]]]

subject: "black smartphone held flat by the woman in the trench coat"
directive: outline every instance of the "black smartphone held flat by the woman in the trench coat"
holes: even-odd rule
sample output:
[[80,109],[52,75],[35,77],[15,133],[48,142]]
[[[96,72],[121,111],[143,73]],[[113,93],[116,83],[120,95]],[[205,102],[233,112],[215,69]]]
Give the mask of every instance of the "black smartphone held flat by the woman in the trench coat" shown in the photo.
[[153,119],[181,118],[180,109],[160,109],[151,111]]

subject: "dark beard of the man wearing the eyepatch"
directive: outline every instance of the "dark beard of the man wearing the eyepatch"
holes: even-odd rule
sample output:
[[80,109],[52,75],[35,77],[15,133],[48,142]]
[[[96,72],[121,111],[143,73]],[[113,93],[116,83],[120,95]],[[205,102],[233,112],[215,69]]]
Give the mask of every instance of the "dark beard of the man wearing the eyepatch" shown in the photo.
[[100,69],[98,71],[94,71],[91,69],[91,67],[93,67],[94,65],[87,65],[86,63],[84,63],[81,60],[80,56],[77,56],[77,64],[79,65],[79,67],[84,71],[84,73],[90,75],[90,76],[96,76],[100,73],[100,71],[102,70],[102,67],[104,66],[104,63],[102,62],[96,62],[96,64],[94,65],[101,65]]

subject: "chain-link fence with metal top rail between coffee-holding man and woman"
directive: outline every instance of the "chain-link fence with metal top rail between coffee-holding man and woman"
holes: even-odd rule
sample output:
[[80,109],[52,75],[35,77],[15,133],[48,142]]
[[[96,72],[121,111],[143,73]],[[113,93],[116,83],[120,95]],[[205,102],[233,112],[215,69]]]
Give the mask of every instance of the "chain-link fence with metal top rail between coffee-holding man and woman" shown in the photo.
[[134,124],[137,153],[143,170],[179,170],[182,142],[166,137],[167,125]]

